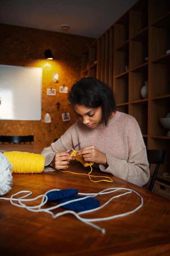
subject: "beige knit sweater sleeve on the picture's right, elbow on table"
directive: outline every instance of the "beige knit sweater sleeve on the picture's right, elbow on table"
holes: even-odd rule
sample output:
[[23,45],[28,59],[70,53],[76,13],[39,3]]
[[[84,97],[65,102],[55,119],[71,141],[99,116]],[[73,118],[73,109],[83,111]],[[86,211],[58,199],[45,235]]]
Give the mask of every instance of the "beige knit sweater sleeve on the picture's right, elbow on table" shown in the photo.
[[99,168],[138,186],[144,186],[150,177],[144,139],[134,118],[127,127],[128,161],[106,154],[108,167],[100,164]]

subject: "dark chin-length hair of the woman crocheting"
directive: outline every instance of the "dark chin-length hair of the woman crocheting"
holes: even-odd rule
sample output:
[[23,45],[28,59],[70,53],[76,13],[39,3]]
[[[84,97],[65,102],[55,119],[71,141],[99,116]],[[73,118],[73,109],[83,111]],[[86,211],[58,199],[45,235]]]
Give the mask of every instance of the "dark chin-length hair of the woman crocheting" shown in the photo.
[[94,77],[85,77],[77,81],[68,94],[71,105],[84,105],[87,108],[102,108],[103,121],[108,124],[112,111],[116,110],[113,90]]

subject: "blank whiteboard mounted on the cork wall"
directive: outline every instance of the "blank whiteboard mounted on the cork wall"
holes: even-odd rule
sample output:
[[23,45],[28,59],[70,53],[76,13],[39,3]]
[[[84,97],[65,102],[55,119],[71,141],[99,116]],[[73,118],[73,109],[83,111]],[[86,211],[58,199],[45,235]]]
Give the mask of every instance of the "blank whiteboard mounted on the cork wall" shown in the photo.
[[0,119],[40,120],[42,68],[0,65]]

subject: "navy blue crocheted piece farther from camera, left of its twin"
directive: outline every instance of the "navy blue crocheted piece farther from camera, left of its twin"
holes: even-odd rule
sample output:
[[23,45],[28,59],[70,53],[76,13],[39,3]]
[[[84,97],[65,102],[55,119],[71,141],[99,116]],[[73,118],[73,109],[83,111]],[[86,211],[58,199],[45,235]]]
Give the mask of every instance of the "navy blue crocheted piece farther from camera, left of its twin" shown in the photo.
[[62,189],[62,190],[56,190],[56,191],[51,191],[47,193],[48,201],[55,201],[55,200],[60,200],[64,198],[70,198],[73,195],[78,194],[78,189]]

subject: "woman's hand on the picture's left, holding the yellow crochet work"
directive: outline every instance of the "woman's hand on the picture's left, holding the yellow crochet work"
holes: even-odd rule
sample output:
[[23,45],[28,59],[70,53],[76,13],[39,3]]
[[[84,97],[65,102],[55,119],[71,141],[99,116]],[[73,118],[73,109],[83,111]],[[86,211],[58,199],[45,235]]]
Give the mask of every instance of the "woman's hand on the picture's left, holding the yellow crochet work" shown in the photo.
[[71,160],[73,160],[73,157],[70,157],[68,151],[60,151],[55,154],[50,166],[56,170],[61,170],[66,168]]

